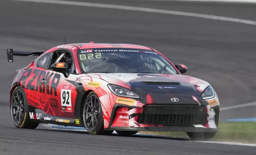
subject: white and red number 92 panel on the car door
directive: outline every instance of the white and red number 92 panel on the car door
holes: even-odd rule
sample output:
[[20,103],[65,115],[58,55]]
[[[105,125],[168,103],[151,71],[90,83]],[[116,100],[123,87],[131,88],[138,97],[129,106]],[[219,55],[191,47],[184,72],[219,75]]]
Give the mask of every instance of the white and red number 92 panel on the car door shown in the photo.
[[72,85],[62,84],[61,86],[61,107],[63,112],[72,112],[71,89]]

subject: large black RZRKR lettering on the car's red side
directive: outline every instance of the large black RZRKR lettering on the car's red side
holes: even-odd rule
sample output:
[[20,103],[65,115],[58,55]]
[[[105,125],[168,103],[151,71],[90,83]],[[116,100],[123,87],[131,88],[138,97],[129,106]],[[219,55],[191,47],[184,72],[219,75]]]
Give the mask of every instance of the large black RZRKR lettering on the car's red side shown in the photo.
[[[51,82],[50,79],[52,79]],[[44,80],[46,83],[42,84],[41,80]],[[24,70],[18,80],[18,84],[25,89],[54,96],[57,96],[56,88],[59,82],[60,74],[46,70],[32,70],[32,68]]]

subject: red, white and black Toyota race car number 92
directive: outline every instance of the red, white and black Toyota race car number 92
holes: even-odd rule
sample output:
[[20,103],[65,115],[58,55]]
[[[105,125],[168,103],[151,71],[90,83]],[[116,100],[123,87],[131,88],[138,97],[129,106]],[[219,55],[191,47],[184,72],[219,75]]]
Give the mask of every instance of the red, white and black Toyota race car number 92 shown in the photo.
[[131,44],[74,43],[39,55],[16,70],[10,110],[17,128],[39,123],[84,127],[90,134],[120,135],[144,131],[187,132],[207,140],[218,131],[219,100],[211,85],[181,75],[150,47]]

